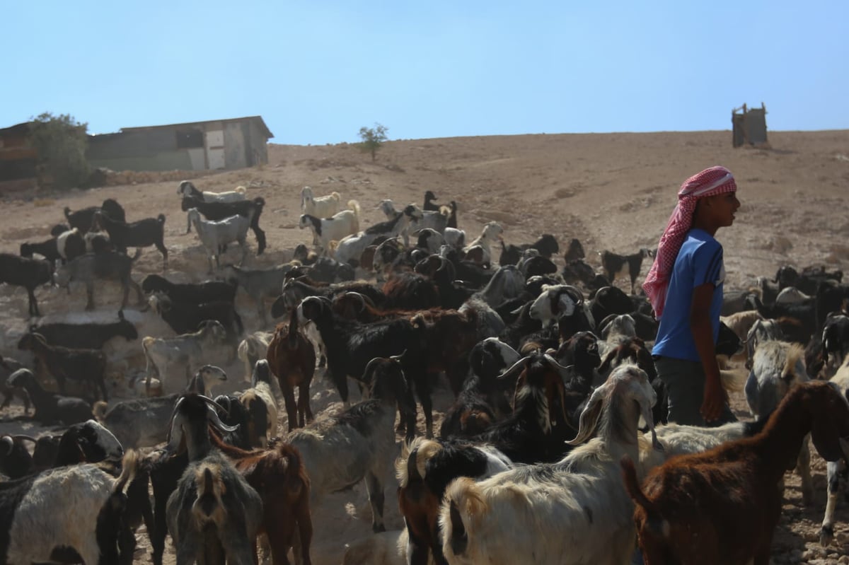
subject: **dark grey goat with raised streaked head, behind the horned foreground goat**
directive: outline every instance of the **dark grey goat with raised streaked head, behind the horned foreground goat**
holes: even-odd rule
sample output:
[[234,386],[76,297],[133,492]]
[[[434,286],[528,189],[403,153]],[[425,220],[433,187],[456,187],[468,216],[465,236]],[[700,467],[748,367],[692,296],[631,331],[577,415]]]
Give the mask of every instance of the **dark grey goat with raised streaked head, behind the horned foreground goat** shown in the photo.
[[[205,365],[198,369],[186,390],[198,394],[210,394],[216,383],[227,380],[227,373],[215,365]],[[182,393],[121,400],[107,410],[105,402],[96,402],[94,416],[115,434],[115,437],[127,449],[153,447],[167,439],[168,430],[162,425],[171,416],[174,403]]]

